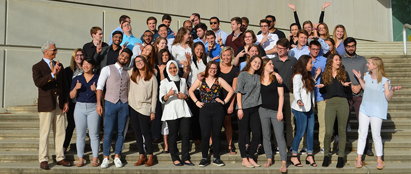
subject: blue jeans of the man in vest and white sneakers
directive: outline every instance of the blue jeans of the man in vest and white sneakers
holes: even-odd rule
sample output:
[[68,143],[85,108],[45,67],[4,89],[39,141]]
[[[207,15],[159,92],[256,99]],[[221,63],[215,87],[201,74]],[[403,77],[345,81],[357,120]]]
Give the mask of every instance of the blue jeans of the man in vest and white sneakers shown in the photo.
[[114,104],[106,100],[104,109],[103,155],[110,156],[111,140],[116,124],[118,130],[114,153],[121,155],[124,142],[124,128],[126,127],[127,117],[129,117],[129,102],[123,103],[119,100]]

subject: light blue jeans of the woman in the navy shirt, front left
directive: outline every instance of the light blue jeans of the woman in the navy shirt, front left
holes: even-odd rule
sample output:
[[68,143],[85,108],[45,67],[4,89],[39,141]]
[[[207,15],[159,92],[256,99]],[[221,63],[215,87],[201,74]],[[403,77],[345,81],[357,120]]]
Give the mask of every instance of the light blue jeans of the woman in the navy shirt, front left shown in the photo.
[[99,157],[100,115],[96,111],[97,103],[77,102],[74,109],[74,122],[77,129],[77,156],[83,158],[86,146],[86,132],[89,128],[90,146],[93,157]]

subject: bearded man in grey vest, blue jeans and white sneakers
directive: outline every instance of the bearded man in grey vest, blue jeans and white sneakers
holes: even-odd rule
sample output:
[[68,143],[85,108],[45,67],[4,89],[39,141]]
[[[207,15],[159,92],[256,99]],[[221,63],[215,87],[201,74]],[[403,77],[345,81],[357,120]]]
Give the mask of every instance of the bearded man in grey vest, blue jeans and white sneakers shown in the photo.
[[[124,129],[127,118],[129,117],[129,102],[127,87],[129,85],[129,74],[125,66],[129,63],[133,56],[132,50],[125,48],[120,52],[116,64],[104,67],[100,72],[99,81],[97,83],[97,113],[103,114],[101,98],[103,89],[106,87],[105,112],[104,112],[104,139],[103,139],[103,155],[104,160],[101,168],[109,167],[109,156],[112,135],[117,125],[117,141],[115,148],[114,164],[116,167],[123,167],[120,161],[122,146],[124,142]],[[117,122],[116,122],[117,121]]]

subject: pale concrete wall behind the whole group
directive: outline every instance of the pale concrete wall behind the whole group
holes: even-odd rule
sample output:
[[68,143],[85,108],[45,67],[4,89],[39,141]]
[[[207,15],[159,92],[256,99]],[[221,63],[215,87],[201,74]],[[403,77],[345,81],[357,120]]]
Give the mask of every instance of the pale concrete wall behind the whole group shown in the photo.
[[[324,21],[331,32],[343,24],[349,36],[389,41],[389,0],[333,0],[325,10]],[[201,5],[199,5],[202,3]],[[276,17],[276,27],[288,33],[294,22],[293,12],[286,5],[293,3],[300,22],[318,21],[323,0],[1,0],[0,1],[0,107],[32,105],[37,88],[31,67],[42,58],[40,45],[52,40],[59,53],[55,60],[68,66],[72,50],[92,40],[90,28],[100,26],[104,41],[127,14],[132,18],[133,33],[139,37],[147,29],[145,20],[154,16],[160,23],[163,13],[172,16],[171,28],[176,31],[192,12],[198,12],[208,25],[208,18],[218,16],[221,29],[230,32],[230,19],[247,16],[249,29],[256,32],[259,20],[267,14]],[[4,20],[2,20],[4,19]],[[332,34],[332,33],[331,33]]]

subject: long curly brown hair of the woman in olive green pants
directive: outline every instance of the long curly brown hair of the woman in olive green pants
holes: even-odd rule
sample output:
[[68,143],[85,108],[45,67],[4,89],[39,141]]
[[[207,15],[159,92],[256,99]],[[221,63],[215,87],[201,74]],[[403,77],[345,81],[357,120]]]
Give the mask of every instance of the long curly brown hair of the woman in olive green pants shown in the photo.
[[347,80],[347,77],[345,76],[346,73],[345,73],[345,70],[344,70],[343,65],[342,65],[341,56],[339,54],[331,54],[327,58],[327,63],[325,64],[325,70],[321,75],[322,76],[322,81],[323,81],[325,86],[332,84],[332,79],[333,79],[333,77],[332,77],[332,64],[334,62],[334,57],[335,56],[338,56],[338,58],[341,61],[340,68],[337,70],[336,78],[337,78],[338,82],[345,82]]

